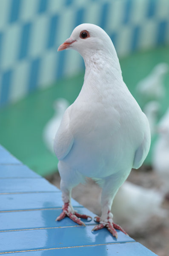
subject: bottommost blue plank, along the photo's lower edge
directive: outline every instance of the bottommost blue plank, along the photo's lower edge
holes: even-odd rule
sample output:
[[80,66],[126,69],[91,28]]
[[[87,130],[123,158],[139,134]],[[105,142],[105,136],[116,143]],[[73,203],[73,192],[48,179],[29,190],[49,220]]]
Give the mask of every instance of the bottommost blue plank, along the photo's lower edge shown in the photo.
[[106,245],[94,245],[76,248],[63,248],[53,250],[40,250],[34,252],[25,253],[9,253],[8,256],[86,256],[86,255],[98,255],[98,256],[157,256],[157,254],[151,252],[142,244],[137,242],[125,243],[125,244],[106,244]]

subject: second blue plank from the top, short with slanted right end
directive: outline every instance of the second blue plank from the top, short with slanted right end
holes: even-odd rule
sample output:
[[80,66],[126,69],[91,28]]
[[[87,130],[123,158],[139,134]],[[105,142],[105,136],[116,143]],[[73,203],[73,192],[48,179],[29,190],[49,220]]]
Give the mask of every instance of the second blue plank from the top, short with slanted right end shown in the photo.
[[22,164],[0,165],[0,178],[39,178],[40,175]]

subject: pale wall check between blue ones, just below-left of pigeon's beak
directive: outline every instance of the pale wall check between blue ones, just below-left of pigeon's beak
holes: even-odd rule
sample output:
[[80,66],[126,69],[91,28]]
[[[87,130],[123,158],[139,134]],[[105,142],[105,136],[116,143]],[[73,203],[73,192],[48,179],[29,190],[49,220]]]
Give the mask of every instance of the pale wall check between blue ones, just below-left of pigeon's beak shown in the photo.
[[41,61],[40,69],[40,87],[48,87],[54,81],[54,73],[56,73],[56,55],[57,51],[52,50],[46,52]]

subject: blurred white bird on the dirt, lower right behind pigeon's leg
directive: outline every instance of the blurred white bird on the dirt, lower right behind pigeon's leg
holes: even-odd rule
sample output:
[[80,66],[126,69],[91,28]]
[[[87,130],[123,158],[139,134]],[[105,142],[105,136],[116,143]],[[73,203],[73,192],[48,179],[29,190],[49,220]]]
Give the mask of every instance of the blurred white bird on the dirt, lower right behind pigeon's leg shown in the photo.
[[145,227],[153,216],[166,216],[162,202],[162,193],[126,181],[115,196],[112,211],[115,221],[135,232]]

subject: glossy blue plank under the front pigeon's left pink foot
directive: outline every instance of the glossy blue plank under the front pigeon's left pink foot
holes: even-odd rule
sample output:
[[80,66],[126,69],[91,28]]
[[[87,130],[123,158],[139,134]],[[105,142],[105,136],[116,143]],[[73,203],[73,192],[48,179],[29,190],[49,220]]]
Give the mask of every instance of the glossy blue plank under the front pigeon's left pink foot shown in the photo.
[[[94,221],[95,214],[84,207],[74,208],[81,214],[92,217],[92,220],[82,219],[85,224],[96,224]],[[64,218],[61,221],[55,221],[60,215],[62,209],[23,211],[23,212],[0,212],[0,230],[20,230],[43,227],[67,227],[77,226],[77,224],[69,219]]]

